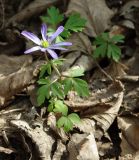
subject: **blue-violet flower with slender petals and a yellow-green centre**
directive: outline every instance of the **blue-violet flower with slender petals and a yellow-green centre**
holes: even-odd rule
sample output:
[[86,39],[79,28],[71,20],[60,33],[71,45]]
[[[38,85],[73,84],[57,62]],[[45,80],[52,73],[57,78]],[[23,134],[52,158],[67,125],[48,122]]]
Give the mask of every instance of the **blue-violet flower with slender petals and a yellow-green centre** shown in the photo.
[[71,46],[72,45],[71,42],[59,42],[59,43],[54,42],[56,37],[59,36],[59,34],[63,31],[64,31],[64,27],[60,26],[60,27],[58,27],[58,29],[56,30],[55,33],[53,33],[51,36],[47,36],[47,26],[46,26],[46,24],[42,24],[42,27],[41,27],[42,39],[41,40],[35,34],[33,34],[31,32],[22,31],[21,34],[23,36],[25,36],[26,38],[30,39],[35,44],[37,44],[36,46],[26,50],[24,53],[28,54],[28,53],[31,53],[31,52],[34,52],[37,50],[41,50],[42,52],[48,52],[52,58],[57,59],[58,56],[57,56],[56,52],[54,51],[55,49],[67,50],[67,49],[63,48],[63,46]]

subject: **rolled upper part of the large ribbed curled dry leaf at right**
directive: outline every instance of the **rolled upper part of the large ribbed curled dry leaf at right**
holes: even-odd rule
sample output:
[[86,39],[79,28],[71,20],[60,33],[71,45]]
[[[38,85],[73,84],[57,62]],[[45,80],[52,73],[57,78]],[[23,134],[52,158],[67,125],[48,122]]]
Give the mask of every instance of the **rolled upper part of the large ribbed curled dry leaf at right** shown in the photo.
[[[78,111],[82,111],[88,108],[88,109],[92,109],[92,113],[98,114],[99,111],[96,108],[96,106],[101,108],[100,106],[104,105],[104,107],[109,109],[111,105],[109,103],[112,101],[114,96],[122,92],[124,89],[123,84],[120,81],[115,81],[113,84],[106,87],[107,88],[104,88],[102,90],[97,89],[97,91],[95,92],[92,91],[91,96],[85,99],[80,98],[76,94],[73,94],[72,92],[70,92],[71,94],[69,94],[68,96],[69,100],[65,100],[64,102],[68,106],[70,106],[73,110],[75,109]],[[94,111],[93,111],[93,107],[94,107]],[[100,109],[100,113],[105,111],[106,108],[102,110]]]

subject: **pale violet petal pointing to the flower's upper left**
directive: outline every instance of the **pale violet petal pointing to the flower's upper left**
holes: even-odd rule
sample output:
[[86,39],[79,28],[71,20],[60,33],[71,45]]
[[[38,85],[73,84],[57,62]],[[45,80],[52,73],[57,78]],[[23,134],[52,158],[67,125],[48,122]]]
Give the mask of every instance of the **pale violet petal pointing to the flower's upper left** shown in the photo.
[[27,31],[22,31],[21,34],[26,38],[30,39],[31,41],[33,41],[34,43],[41,45],[40,39],[35,34]]

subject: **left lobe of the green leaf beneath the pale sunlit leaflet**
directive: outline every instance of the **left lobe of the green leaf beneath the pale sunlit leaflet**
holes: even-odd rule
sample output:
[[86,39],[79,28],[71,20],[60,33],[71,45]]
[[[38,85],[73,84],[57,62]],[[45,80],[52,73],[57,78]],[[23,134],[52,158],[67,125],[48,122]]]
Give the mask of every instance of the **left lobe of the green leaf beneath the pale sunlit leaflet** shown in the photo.
[[72,79],[65,78],[63,80],[63,85],[64,85],[64,93],[65,95],[67,95],[67,93],[72,90]]

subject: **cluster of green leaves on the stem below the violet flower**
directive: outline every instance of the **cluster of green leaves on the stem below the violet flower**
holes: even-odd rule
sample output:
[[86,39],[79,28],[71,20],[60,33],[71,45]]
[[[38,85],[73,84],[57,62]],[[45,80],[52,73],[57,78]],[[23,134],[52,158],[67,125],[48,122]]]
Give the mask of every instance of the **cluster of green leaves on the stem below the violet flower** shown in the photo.
[[[64,104],[64,98],[72,90],[77,92],[79,96],[89,96],[89,88],[86,81],[80,79],[84,75],[82,68],[73,67],[65,74],[61,74],[58,70],[58,66],[62,64],[61,62],[63,62],[63,59],[56,59],[50,60],[43,65],[43,70],[40,71],[40,79],[38,80],[40,87],[37,92],[37,101],[41,106],[46,100],[49,100],[48,111],[61,113],[57,126],[59,128],[63,127],[68,132],[72,130],[75,123],[80,122],[80,118],[76,113],[69,113],[68,106]],[[51,79],[51,70],[55,70],[57,78]]]

